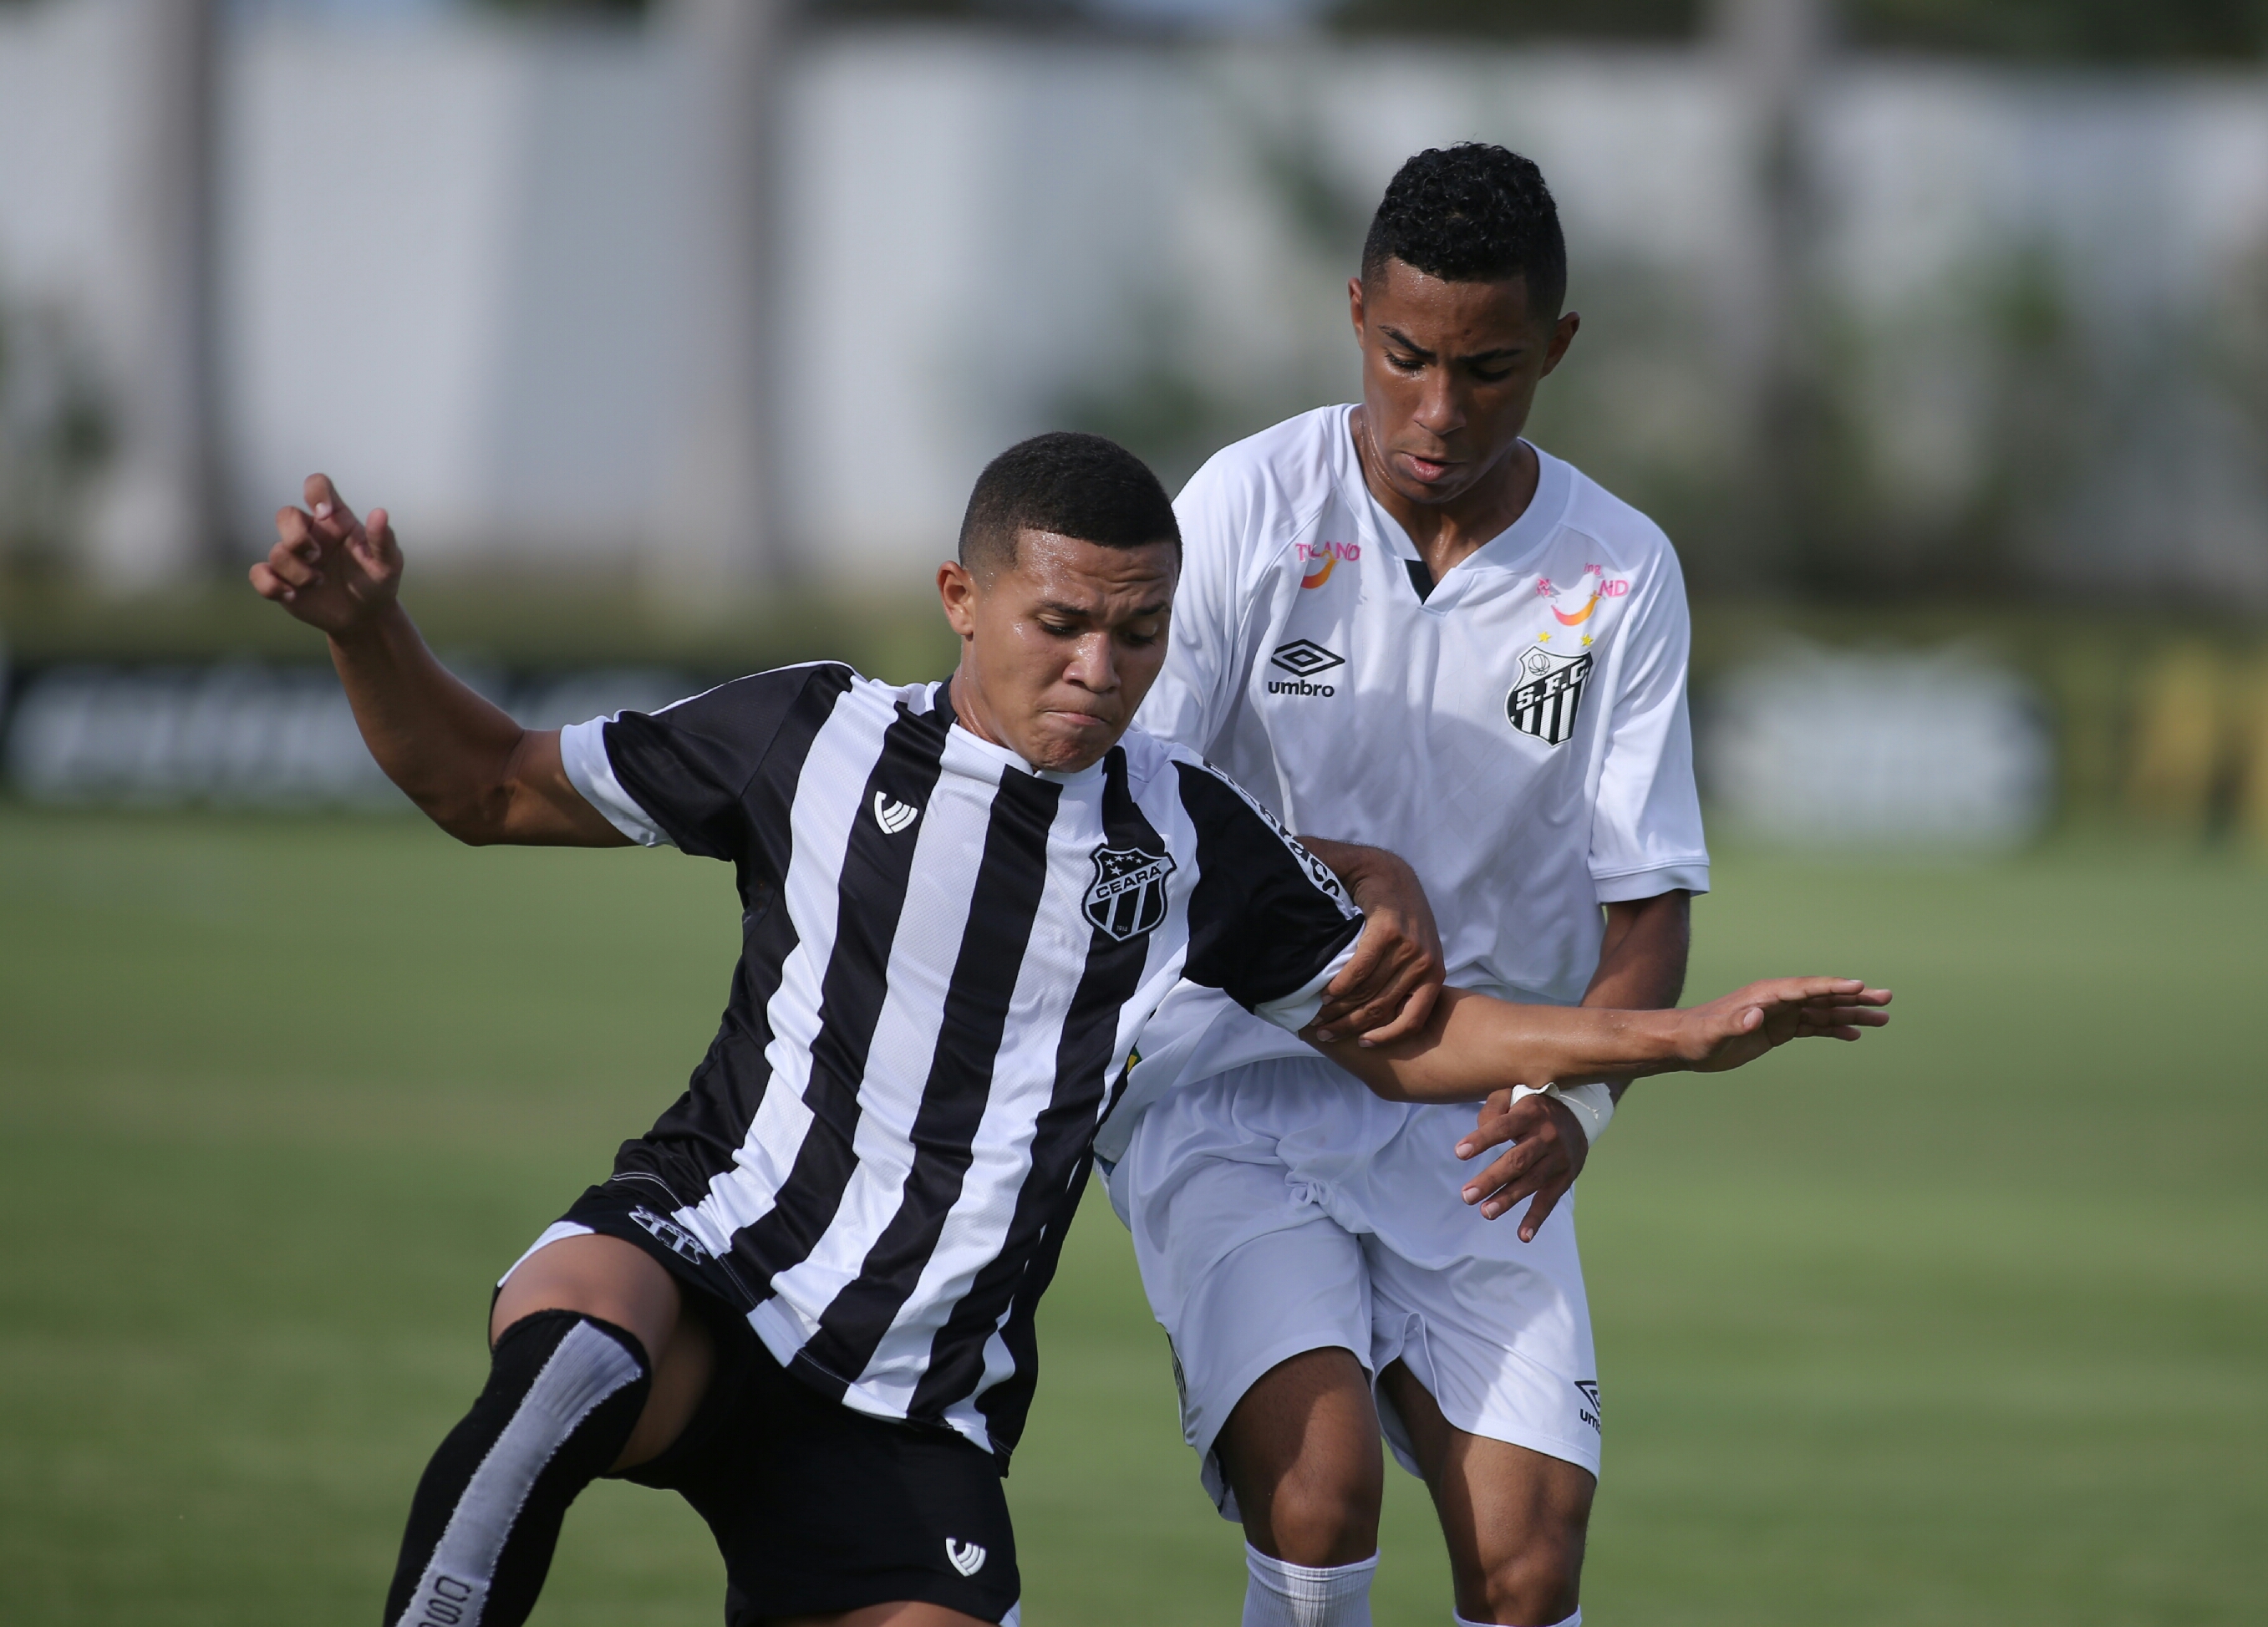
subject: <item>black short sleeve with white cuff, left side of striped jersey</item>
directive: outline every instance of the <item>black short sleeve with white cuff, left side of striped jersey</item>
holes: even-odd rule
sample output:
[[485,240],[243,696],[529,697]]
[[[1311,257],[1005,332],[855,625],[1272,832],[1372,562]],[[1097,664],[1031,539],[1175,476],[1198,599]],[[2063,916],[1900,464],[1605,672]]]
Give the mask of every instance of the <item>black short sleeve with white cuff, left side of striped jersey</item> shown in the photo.
[[658,713],[594,717],[560,731],[567,778],[633,842],[701,858],[748,849],[748,787],[782,724],[850,688],[830,663],[760,672]]

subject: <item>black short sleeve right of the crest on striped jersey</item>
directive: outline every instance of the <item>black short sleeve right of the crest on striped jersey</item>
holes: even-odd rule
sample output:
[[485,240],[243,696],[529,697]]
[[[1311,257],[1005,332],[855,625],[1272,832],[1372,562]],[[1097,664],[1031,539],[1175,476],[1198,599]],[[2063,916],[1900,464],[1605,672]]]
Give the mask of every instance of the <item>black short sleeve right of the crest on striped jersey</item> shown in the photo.
[[1198,831],[1182,976],[1297,1032],[1352,955],[1363,914],[1331,867],[1243,787],[1200,762],[1175,767]]

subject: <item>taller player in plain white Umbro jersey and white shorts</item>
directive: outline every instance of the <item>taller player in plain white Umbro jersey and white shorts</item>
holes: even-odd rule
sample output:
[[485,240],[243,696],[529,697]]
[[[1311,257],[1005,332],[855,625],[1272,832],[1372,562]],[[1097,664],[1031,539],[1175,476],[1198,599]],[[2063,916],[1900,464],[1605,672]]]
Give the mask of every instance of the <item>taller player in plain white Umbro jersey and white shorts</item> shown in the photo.
[[[1708,890],[1685,592],[1651,520],[1520,436],[1576,334],[1565,281],[1533,163],[1402,166],[1349,284],[1363,399],[1191,479],[1139,722],[1293,831],[1404,855],[1449,983],[1662,1008]],[[1497,1096],[1472,1135],[1191,985],[1141,1053],[1098,1155],[1204,1484],[1245,1527],[1245,1625],[1370,1620],[1383,1423],[1433,1493],[1458,1620],[1572,1627],[1601,1407],[1565,1194],[1619,1085]]]

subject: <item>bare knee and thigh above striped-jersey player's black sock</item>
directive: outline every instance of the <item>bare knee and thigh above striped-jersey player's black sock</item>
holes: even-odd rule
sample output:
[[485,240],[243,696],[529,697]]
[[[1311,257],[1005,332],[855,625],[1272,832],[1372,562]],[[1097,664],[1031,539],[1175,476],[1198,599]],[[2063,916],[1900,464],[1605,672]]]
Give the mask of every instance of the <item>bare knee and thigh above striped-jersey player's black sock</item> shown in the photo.
[[497,1287],[490,1343],[535,1312],[594,1316],[631,1330],[646,1348],[653,1382],[615,1468],[653,1459],[685,1432],[717,1366],[714,1337],[658,1259],[603,1232],[560,1237],[526,1255]]

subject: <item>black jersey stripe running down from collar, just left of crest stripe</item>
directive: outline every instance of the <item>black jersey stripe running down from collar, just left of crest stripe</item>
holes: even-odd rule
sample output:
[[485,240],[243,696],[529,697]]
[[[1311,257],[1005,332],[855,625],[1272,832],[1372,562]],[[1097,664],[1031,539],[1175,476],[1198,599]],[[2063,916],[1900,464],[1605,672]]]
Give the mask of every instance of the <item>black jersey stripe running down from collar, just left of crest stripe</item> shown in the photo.
[[864,1373],[898,1312],[914,1296],[946,1216],[959,1203],[978,1126],[991,1101],[993,1064],[1007,1032],[1016,978],[1048,885],[1048,828],[1064,787],[1009,769],[1000,776],[984,858],[971,892],[968,926],[914,1116],[914,1166],[898,1212],[882,1228],[860,1275],[819,1318],[803,1357],[830,1373]]

